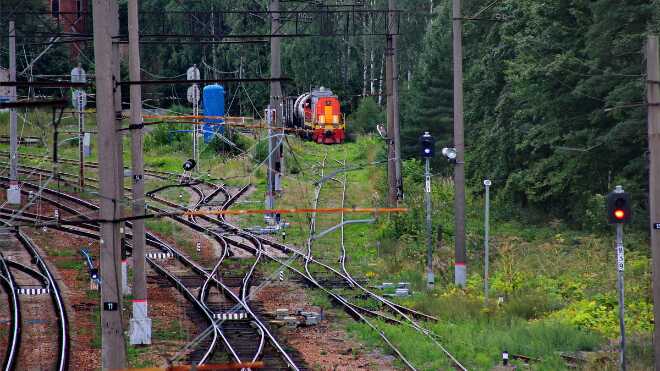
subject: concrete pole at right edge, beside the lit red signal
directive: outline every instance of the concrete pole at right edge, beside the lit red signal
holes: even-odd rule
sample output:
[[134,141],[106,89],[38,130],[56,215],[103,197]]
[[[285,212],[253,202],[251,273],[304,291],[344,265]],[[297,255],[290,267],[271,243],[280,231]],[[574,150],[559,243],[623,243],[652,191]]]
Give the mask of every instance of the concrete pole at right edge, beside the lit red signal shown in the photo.
[[[658,37],[649,36],[646,45],[646,76],[649,136],[649,212],[653,272],[653,318],[660,321],[660,61]],[[655,370],[660,371],[660,326],[653,330]]]

